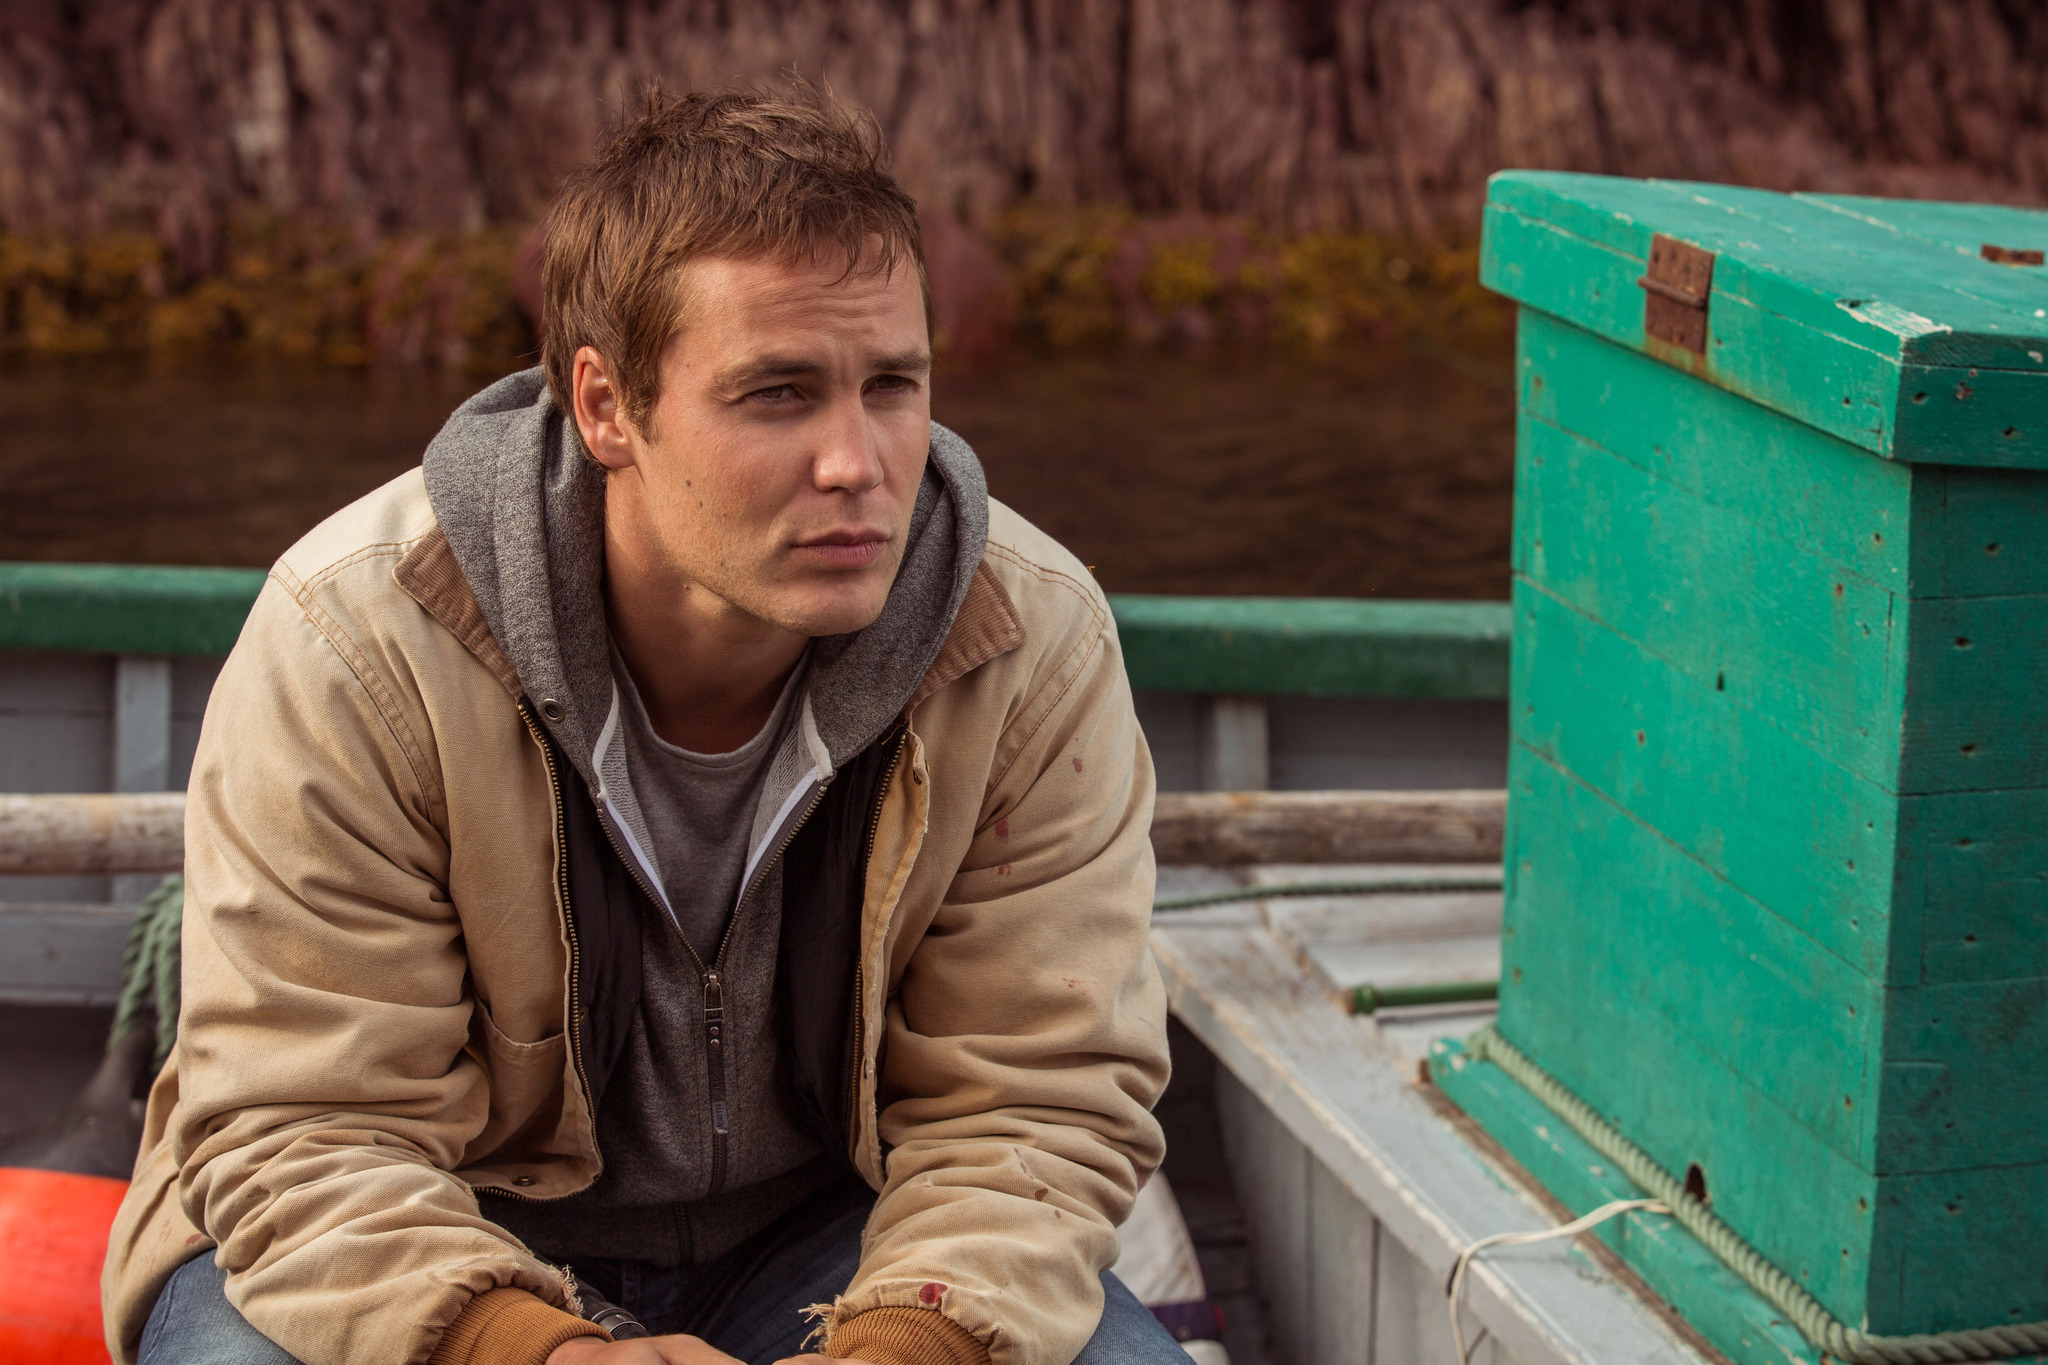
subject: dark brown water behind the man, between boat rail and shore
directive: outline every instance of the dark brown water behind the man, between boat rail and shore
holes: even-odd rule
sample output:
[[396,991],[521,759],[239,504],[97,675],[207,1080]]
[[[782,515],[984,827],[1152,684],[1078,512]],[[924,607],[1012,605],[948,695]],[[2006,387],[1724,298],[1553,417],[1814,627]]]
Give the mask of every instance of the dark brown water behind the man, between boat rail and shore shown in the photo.
[[[266,565],[487,383],[274,362],[14,362],[0,559]],[[1501,598],[1505,354],[1020,356],[942,372],[989,489],[1110,591]]]

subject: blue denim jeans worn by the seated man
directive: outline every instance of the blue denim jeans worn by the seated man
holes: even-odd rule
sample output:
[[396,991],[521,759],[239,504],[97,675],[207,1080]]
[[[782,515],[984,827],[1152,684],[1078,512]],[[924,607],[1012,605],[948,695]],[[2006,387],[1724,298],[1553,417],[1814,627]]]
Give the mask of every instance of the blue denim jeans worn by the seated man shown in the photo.
[[[829,1302],[854,1277],[872,1201],[866,1189],[823,1195],[707,1265],[580,1261],[575,1273],[653,1332],[688,1332],[748,1365],[772,1365],[803,1351],[805,1306]],[[299,1365],[236,1312],[225,1285],[211,1254],[178,1267],[141,1332],[139,1365]],[[1102,1320],[1075,1365],[1188,1365],[1188,1355],[1104,1273]]]

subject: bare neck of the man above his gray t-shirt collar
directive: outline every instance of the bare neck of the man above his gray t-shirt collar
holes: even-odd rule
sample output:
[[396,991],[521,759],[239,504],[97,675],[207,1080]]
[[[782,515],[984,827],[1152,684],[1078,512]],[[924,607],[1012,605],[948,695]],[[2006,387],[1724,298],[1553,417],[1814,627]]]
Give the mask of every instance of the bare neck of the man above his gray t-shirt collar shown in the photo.
[[694,753],[729,753],[774,714],[809,641],[674,573],[606,518],[604,616],[653,733]]

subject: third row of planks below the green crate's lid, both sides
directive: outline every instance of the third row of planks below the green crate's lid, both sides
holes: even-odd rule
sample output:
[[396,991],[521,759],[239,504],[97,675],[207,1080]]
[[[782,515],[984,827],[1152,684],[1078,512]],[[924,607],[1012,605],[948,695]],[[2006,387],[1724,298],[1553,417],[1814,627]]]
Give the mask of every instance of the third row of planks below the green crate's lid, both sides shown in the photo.
[[1890,984],[2048,974],[2048,790],[1901,800],[1540,587],[1516,593],[1522,743]]

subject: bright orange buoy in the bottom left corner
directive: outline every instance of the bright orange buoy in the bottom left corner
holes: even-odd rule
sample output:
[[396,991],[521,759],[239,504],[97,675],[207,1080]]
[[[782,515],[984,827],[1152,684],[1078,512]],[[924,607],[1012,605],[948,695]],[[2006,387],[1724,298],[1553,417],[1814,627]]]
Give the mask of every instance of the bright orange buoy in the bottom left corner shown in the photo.
[[0,1166],[0,1361],[106,1365],[100,1265],[127,1181]]

